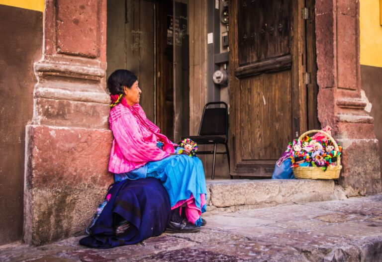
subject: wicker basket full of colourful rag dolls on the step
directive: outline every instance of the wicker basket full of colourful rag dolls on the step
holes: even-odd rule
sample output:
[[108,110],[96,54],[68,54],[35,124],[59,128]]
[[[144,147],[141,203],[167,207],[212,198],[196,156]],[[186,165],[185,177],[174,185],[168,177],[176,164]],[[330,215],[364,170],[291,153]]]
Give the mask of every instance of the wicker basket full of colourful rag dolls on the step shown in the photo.
[[[313,136],[310,134],[315,133]],[[288,146],[295,178],[336,179],[340,176],[342,148],[330,134],[330,127],[310,130]]]

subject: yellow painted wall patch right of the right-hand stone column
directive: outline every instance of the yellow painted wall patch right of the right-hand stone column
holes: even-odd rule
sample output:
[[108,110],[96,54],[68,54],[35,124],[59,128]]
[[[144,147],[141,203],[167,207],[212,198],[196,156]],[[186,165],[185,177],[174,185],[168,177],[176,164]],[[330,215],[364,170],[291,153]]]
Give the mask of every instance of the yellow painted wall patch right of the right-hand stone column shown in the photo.
[[382,0],[360,0],[361,65],[382,67]]

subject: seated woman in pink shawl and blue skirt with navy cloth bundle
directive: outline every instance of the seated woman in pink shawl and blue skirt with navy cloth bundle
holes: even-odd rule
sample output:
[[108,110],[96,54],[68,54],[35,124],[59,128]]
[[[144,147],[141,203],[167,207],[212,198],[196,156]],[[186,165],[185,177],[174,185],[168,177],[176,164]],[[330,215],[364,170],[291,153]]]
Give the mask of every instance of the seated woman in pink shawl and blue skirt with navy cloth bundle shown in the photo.
[[135,244],[160,235],[166,225],[166,232],[199,231],[206,205],[201,161],[175,154],[177,145],[146,117],[139,105],[141,89],[134,74],[113,72],[107,88],[114,135],[109,171],[115,183],[108,192],[108,203],[89,229],[90,236],[80,243],[98,248]]

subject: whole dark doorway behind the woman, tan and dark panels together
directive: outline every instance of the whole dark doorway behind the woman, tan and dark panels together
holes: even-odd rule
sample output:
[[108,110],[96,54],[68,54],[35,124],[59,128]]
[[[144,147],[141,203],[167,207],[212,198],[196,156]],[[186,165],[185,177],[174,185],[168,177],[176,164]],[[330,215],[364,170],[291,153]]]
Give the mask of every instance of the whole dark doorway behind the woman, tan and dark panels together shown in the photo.
[[134,72],[147,117],[175,142],[188,134],[188,1],[107,1],[106,42],[107,76]]

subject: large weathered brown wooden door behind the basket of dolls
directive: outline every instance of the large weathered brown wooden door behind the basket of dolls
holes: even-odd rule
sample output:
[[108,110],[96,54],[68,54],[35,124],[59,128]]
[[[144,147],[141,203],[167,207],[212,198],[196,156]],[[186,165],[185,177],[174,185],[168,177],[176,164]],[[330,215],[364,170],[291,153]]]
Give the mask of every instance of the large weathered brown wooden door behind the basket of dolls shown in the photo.
[[230,1],[231,175],[271,176],[306,127],[303,2]]

